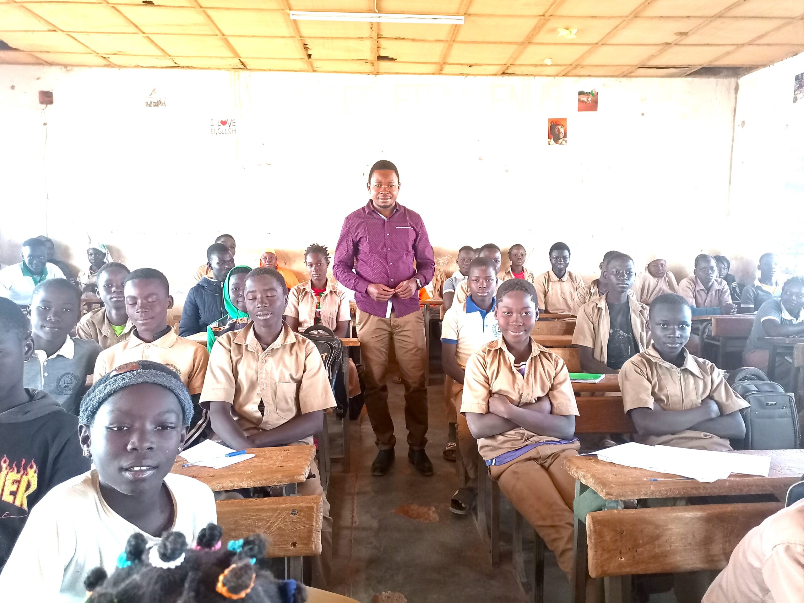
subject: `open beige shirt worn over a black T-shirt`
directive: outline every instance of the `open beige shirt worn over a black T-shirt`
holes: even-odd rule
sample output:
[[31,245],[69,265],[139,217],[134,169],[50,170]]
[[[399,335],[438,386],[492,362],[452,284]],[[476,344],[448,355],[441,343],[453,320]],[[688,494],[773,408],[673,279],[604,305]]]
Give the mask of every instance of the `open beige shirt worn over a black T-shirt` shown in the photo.
[[[638,351],[647,347],[648,306],[628,296],[628,308],[631,314],[631,331]],[[609,351],[609,306],[605,294],[596,301],[588,301],[580,307],[572,333],[572,345],[591,347],[594,359],[604,363]]]

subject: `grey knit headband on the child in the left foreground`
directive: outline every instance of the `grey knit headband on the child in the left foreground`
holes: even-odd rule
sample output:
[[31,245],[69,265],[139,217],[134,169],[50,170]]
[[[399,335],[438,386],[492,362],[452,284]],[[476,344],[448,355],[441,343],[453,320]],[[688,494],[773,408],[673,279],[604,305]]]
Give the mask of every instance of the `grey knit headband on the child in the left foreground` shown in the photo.
[[[125,368],[129,367],[129,365],[133,368],[125,371]],[[137,365],[138,368],[136,367]],[[187,386],[182,383],[182,379],[170,367],[150,360],[140,360],[137,363],[122,365],[98,379],[92,385],[92,388],[89,388],[89,391],[84,394],[84,399],[81,400],[81,409],[78,415],[80,423],[91,425],[98,408],[109,399],[109,396],[123,388],[139,384],[161,385],[162,388],[173,392],[178,399],[179,406],[182,407],[184,424],[190,425],[193,418],[193,401]]]

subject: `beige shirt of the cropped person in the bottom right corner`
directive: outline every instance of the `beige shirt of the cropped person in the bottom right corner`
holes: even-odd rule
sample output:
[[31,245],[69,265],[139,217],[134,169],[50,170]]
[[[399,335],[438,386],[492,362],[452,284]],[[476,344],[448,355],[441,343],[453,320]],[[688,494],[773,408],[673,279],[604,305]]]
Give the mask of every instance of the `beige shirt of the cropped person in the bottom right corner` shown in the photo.
[[804,601],[804,501],[765,519],[740,540],[701,603]]

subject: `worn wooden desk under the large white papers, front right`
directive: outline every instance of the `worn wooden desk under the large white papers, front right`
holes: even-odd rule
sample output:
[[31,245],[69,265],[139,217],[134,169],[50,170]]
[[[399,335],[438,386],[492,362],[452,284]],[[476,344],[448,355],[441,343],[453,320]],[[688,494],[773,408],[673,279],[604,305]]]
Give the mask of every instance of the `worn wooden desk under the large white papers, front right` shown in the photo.
[[[704,483],[694,479],[673,480],[678,476],[626,467],[601,461],[597,457],[571,457],[565,462],[570,475],[576,479],[576,498],[591,488],[602,498],[615,501],[619,509],[627,501],[639,498],[687,498],[692,496],[725,496],[733,494],[781,494],[804,474],[804,449],[801,450],[740,450],[734,454],[751,454],[770,457],[767,478],[757,475],[732,474],[726,479]],[[651,482],[650,478],[661,481]],[[751,503],[767,504],[767,503]],[[633,507],[633,505],[632,505]],[[669,507],[668,507],[669,508]],[[758,508],[758,507],[757,507]],[[643,509],[640,512],[653,512]],[[602,511],[603,513],[617,512]],[[629,511],[633,513],[634,511]],[[589,542],[586,523],[575,519],[573,601],[585,601],[585,583],[589,568]],[[630,576],[606,579],[606,597],[627,600],[630,595]],[[621,597],[621,598],[620,598]]]

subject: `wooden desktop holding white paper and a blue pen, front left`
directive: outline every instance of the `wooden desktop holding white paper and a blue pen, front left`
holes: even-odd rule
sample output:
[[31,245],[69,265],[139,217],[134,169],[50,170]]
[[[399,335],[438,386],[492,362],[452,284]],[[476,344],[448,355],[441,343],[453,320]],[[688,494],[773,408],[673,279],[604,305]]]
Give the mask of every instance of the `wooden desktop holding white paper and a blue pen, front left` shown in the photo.
[[246,452],[256,456],[223,469],[197,465],[183,467],[183,463],[187,461],[177,457],[170,473],[195,478],[207,484],[215,492],[238,488],[283,486],[281,494],[287,496],[296,494],[296,484],[304,482],[310,473],[310,463],[315,457],[315,446],[249,448]]

